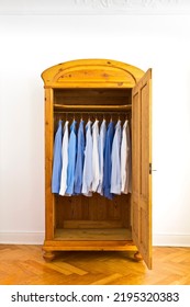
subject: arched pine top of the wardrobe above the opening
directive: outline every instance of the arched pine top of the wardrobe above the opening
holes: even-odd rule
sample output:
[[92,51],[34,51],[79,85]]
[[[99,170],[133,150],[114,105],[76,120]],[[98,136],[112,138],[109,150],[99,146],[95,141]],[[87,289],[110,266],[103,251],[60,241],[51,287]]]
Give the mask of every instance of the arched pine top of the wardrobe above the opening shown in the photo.
[[134,88],[144,76],[135,66],[109,59],[78,59],[47,68],[42,73],[45,88]]

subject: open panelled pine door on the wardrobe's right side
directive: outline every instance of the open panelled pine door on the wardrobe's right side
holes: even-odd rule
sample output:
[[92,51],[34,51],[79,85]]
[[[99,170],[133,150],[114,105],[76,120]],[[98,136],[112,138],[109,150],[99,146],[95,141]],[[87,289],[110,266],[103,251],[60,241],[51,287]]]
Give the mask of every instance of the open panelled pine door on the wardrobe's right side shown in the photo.
[[132,235],[152,269],[152,70],[132,92]]

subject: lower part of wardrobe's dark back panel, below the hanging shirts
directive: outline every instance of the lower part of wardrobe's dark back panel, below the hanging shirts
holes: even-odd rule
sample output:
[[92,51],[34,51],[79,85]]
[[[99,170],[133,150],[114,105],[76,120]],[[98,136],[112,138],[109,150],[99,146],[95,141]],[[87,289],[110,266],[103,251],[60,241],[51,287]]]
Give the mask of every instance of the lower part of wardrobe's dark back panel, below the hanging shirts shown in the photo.
[[91,197],[55,196],[56,228],[131,227],[131,196],[114,196],[112,201],[93,193]]

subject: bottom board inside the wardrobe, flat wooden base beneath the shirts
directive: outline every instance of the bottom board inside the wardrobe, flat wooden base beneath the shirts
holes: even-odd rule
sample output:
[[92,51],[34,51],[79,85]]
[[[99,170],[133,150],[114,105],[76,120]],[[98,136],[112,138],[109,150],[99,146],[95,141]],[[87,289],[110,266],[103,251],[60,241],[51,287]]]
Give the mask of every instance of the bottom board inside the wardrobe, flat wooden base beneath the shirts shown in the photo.
[[132,240],[131,230],[127,228],[107,228],[107,229],[55,229],[55,240],[115,240],[115,241],[127,241]]

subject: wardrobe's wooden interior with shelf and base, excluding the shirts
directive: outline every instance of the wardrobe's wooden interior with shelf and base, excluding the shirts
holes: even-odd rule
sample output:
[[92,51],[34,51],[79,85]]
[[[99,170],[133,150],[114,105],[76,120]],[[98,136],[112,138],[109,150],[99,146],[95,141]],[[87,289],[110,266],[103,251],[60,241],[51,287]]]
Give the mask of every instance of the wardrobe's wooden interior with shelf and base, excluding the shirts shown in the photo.
[[[107,124],[120,118],[132,121],[132,89],[54,89],[54,135],[58,120],[85,124],[103,118]],[[132,137],[131,137],[132,141]],[[54,194],[55,240],[132,240],[131,194],[115,195],[112,201],[93,193],[60,196]]]

